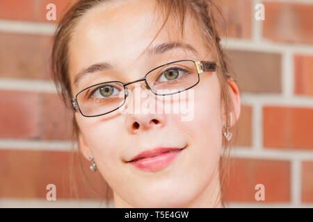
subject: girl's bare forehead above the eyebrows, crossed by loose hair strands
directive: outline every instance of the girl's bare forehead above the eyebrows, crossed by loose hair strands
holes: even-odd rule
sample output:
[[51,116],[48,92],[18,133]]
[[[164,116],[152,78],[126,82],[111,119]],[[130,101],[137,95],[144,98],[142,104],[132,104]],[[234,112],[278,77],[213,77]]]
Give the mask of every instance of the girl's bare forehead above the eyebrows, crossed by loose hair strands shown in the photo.
[[[146,49],[163,24],[155,1],[113,1],[88,10],[74,28],[69,43],[69,71],[73,79],[81,69],[96,62],[127,68]],[[202,53],[202,41],[191,19],[186,19],[184,40],[179,19],[169,18],[153,44],[186,42]],[[143,56],[143,60],[145,60]],[[122,62],[121,62],[122,61]]]

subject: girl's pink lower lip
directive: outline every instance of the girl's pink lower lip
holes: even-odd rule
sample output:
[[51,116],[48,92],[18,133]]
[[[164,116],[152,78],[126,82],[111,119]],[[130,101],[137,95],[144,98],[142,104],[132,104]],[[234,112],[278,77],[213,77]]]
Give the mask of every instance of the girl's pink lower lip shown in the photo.
[[154,157],[147,157],[133,161],[131,164],[143,171],[157,171],[170,165],[175,157],[177,157],[179,153],[182,153],[182,151],[183,150],[162,153],[161,155],[156,155]]

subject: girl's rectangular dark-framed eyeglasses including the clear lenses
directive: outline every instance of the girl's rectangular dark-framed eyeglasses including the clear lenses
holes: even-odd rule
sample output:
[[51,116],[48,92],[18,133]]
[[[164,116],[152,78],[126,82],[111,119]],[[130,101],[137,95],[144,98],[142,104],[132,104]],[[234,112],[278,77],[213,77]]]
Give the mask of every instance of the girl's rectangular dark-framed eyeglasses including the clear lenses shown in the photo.
[[98,117],[118,110],[129,95],[127,85],[145,81],[145,87],[157,96],[184,92],[199,83],[199,74],[216,71],[216,62],[178,60],[154,68],[144,78],[122,83],[110,81],[98,83],[81,90],[71,99],[73,109],[84,117]]

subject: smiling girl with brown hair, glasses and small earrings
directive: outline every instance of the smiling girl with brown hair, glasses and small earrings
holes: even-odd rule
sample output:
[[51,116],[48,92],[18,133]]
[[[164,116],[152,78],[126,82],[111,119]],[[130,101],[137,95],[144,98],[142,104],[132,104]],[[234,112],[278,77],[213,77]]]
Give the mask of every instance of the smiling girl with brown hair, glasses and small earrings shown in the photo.
[[224,206],[223,153],[240,97],[214,8],[81,0],[58,24],[54,81],[72,106],[79,152],[112,188],[114,207]]

